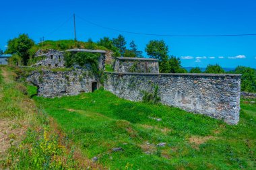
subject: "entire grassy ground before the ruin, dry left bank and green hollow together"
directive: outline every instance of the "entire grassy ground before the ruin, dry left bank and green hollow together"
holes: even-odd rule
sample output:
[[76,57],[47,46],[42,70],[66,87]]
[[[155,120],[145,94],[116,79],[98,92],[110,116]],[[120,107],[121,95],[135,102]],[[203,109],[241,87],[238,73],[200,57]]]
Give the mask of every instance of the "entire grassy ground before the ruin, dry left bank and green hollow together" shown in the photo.
[[102,89],[30,99],[35,87],[15,77],[0,67],[0,169],[256,168],[256,99],[230,126]]

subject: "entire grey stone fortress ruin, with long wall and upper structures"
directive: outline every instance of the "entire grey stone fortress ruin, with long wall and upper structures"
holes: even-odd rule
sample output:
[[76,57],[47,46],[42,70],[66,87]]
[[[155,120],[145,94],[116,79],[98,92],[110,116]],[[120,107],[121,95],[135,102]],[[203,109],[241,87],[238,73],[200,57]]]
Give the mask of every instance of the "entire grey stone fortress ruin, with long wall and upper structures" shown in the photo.
[[158,60],[152,58],[118,57],[113,61],[113,72],[102,75],[92,73],[90,67],[74,66],[74,69],[53,71],[45,69],[65,68],[64,53],[99,53],[98,69],[104,71],[105,60],[110,60],[104,50],[70,49],[49,50],[32,67],[44,67],[33,71],[27,78],[38,87],[38,95],[61,97],[92,92],[100,86],[106,91],[131,101],[141,101],[145,93],[157,95],[160,103],[181,108],[188,112],[203,114],[228,124],[237,124],[240,111],[241,75],[234,74],[162,74]]

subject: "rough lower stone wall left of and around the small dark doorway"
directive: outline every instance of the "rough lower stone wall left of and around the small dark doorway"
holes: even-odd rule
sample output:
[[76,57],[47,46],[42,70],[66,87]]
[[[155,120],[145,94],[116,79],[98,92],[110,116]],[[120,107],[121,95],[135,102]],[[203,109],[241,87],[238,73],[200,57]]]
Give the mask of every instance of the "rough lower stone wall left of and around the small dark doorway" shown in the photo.
[[38,87],[38,95],[43,97],[61,97],[63,95],[77,95],[81,92],[92,91],[92,83],[100,83],[98,77],[85,69],[71,71],[34,71],[27,81]]

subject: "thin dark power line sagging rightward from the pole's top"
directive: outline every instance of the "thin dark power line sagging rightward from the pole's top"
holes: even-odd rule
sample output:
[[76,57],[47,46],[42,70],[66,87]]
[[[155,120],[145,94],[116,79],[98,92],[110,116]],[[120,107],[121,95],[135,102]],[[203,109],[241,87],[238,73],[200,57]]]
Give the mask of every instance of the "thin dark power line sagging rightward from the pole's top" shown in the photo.
[[88,22],[89,24],[92,24],[94,26],[98,26],[100,28],[104,28],[107,30],[113,30],[113,31],[117,31],[117,32],[125,32],[128,34],[139,34],[139,35],[144,35],[144,36],[170,36],[170,37],[222,37],[222,36],[256,36],[256,34],[219,34],[219,35],[175,35],[175,34],[148,34],[148,33],[141,33],[141,32],[128,32],[128,31],[124,31],[124,30],[119,30],[119,29],[115,29],[115,28],[108,28],[106,26],[101,26],[99,24],[96,24],[94,22],[90,22],[87,19],[84,19],[82,17],[79,17],[78,15],[76,15],[79,19],[82,19],[84,22]]

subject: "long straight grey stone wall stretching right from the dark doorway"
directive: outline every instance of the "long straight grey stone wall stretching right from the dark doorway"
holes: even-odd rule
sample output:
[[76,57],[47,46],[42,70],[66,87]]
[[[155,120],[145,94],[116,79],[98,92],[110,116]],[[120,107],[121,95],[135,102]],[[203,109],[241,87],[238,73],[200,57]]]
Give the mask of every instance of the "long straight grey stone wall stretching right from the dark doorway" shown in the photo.
[[241,75],[106,73],[104,89],[131,101],[158,86],[160,102],[237,124]]

